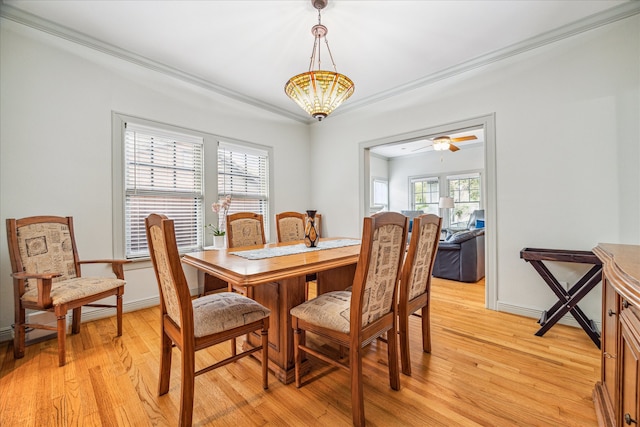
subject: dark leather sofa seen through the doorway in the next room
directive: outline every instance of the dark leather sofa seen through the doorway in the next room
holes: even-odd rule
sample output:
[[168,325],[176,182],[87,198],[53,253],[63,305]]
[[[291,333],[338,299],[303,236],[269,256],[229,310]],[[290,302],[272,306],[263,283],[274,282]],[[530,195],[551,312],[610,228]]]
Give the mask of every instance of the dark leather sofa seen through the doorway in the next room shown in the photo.
[[438,245],[433,276],[459,282],[484,277],[484,228],[456,233]]

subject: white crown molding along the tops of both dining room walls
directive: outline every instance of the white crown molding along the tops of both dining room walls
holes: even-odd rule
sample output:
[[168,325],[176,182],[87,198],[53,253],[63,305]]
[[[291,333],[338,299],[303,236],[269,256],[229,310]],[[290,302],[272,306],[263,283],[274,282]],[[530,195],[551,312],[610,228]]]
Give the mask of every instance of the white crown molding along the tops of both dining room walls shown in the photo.
[[[520,43],[516,43],[510,46],[507,46],[503,49],[491,52],[489,54],[476,57],[469,61],[465,61],[461,64],[455,65],[453,67],[449,67],[447,69],[438,71],[436,73],[432,73],[430,75],[414,80],[412,82],[379,92],[375,95],[371,95],[366,98],[359,99],[357,101],[349,102],[346,105],[343,104],[339,110],[334,111],[331,115],[332,116],[341,115],[341,114],[356,110],[358,108],[362,108],[367,105],[382,101],[387,98],[402,95],[409,91],[415,90],[423,86],[430,85],[440,80],[444,80],[449,77],[453,77],[458,74],[462,74],[464,72],[518,55],[520,53],[527,52],[529,50],[536,49],[538,47],[545,46],[547,44],[554,43],[556,41],[559,41],[568,37],[572,37],[576,34],[580,34],[582,32],[589,31],[591,29],[594,29],[594,28],[597,28],[597,27],[600,27],[624,18],[628,18],[638,13],[640,13],[640,1],[631,0],[628,3],[624,3],[622,5],[611,8],[604,12],[588,16],[579,21],[573,22],[572,24],[566,25],[561,28],[557,28],[555,30],[548,31],[536,37],[532,37],[527,40],[524,40]],[[46,32],[48,34],[60,37],[62,39],[80,44],[90,49],[95,49],[99,52],[114,56],[124,61],[131,62],[141,67],[145,67],[150,70],[166,74],[168,76],[180,79],[187,83],[191,83],[195,86],[199,86],[203,89],[210,90],[212,92],[218,93],[220,95],[224,95],[228,98],[234,99],[236,101],[239,101],[248,105],[252,105],[254,107],[263,109],[265,111],[269,111],[269,112],[272,112],[272,113],[275,113],[275,114],[278,114],[286,118],[289,118],[301,123],[305,123],[305,124],[315,123],[315,120],[311,120],[311,118],[302,117],[298,114],[295,114],[283,108],[277,107],[273,104],[260,101],[251,96],[236,92],[227,87],[218,85],[214,82],[197,77],[193,74],[187,73],[177,68],[153,61],[149,58],[146,58],[141,55],[137,55],[126,49],[119,48],[118,46],[114,46],[109,43],[104,43],[86,34],[79,33],[77,31],[71,30],[70,28],[56,24],[52,21],[39,18],[31,13],[16,9],[12,6],[5,4],[4,2],[0,3],[0,17],[26,25],[28,27],[34,28],[39,31]]]

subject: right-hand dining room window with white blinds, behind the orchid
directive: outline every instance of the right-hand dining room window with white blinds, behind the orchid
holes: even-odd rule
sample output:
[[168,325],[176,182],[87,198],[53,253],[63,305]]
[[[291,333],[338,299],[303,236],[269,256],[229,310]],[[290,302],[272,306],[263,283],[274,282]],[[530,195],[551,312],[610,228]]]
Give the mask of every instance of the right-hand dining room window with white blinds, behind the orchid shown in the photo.
[[[231,195],[229,214],[255,212],[264,217],[269,236],[269,153],[248,145],[220,142],[218,145],[218,195]],[[218,218],[224,229],[224,218]]]

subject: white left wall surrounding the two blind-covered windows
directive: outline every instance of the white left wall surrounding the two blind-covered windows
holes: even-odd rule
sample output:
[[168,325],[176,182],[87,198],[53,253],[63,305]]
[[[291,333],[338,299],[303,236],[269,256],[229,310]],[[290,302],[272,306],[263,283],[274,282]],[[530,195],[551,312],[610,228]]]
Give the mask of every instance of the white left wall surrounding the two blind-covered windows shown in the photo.
[[[271,146],[276,212],[309,206],[308,126],[12,21],[2,19],[0,31],[3,223],[70,215],[80,257],[112,257],[112,111]],[[214,190],[207,190],[210,202]],[[6,339],[13,285],[6,230],[0,230],[0,339]],[[110,274],[83,268],[85,275],[102,272]],[[195,287],[195,274],[187,273]],[[125,277],[125,309],[157,302],[148,262]]]

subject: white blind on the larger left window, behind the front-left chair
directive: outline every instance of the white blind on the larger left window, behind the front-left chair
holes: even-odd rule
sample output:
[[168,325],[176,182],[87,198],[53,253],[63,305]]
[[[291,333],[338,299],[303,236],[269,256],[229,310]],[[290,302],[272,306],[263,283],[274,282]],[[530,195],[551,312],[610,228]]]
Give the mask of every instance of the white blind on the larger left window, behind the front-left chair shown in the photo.
[[144,220],[174,220],[178,250],[202,246],[203,139],[126,123],[125,256],[149,256]]

